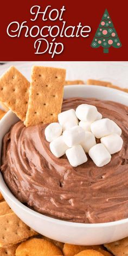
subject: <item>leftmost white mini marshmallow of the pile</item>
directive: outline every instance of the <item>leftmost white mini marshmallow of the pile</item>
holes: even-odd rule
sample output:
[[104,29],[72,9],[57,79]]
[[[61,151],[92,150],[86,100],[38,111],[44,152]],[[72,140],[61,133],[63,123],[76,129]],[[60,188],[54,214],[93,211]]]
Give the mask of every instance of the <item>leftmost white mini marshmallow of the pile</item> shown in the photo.
[[59,137],[61,134],[62,134],[62,127],[59,123],[49,124],[44,131],[44,135],[46,136],[46,140],[48,142],[52,142],[54,139]]

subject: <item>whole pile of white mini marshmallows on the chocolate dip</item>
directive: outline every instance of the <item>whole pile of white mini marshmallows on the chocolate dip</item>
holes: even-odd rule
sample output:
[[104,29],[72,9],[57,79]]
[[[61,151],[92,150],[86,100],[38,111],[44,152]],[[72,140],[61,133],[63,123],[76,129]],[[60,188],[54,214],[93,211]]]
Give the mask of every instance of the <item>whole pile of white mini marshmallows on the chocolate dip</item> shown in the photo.
[[[86,153],[98,167],[111,160],[121,150],[121,129],[114,121],[103,118],[97,107],[82,104],[58,115],[59,123],[49,124],[44,133],[50,151],[56,157],[65,155],[73,167],[87,162]],[[79,121],[80,120],[80,121]],[[96,143],[95,138],[101,143]]]

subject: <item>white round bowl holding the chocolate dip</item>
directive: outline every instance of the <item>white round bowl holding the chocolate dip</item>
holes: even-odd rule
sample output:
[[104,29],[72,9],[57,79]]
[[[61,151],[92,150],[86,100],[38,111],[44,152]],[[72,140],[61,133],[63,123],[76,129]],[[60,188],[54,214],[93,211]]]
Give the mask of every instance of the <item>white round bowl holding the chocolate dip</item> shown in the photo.
[[[127,93],[100,86],[66,86],[64,98],[69,97],[95,97],[128,105]],[[0,121],[0,154],[2,138],[17,120],[16,115],[9,111]],[[128,219],[96,224],[57,220],[37,213],[18,201],[5,184],[2,174],[0,174],[0,189],[4,199],[22,221],[35,231],[51,239],[76,245],[98,245],[128,236]]]

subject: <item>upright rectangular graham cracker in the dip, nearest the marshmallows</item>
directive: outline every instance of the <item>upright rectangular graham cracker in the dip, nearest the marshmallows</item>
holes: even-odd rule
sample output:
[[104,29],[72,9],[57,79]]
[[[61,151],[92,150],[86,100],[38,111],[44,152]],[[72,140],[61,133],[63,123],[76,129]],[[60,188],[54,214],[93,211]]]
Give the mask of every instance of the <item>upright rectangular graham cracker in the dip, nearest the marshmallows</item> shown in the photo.
[[66,70],[34,66],[25,126],[57,121],[61,112]]

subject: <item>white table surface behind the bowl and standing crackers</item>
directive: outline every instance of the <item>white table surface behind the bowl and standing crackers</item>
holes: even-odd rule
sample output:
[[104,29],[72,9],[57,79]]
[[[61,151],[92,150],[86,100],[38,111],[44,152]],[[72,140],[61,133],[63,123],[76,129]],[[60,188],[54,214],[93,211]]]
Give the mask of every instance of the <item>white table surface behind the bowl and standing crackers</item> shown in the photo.
[[128,61],[30,61],[7,62],[0,66],[0,75],[14,65],[30,80],[31,67],[52,66],[66,68],[67,80],[98,79],[112,82],[113,85],[128,88]]

